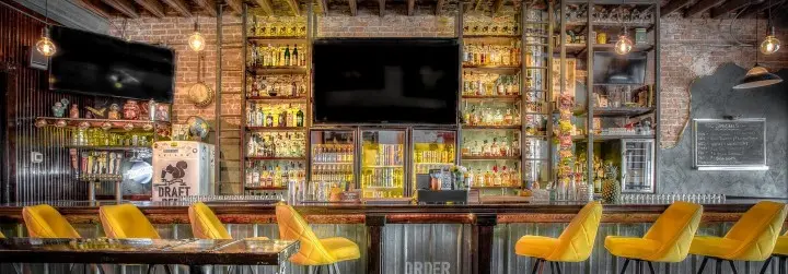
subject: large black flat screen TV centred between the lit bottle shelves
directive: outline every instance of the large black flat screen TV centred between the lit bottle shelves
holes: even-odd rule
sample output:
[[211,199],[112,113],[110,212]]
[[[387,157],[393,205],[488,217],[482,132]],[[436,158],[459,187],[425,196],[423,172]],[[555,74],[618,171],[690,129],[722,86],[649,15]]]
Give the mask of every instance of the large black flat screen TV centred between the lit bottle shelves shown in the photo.
[[315,123],[457,122],[456,39],[314,43]]

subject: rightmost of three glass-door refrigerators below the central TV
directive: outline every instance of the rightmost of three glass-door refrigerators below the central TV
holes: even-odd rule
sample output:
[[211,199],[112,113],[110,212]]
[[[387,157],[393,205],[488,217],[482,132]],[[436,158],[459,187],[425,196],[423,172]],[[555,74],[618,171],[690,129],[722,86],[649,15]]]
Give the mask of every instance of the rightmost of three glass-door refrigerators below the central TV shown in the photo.
[[413,158],[410,189],[416,192],[416,175],[429,174],[430,169],[451,168],[456,163],[456,131],[414,130],[412,136]]

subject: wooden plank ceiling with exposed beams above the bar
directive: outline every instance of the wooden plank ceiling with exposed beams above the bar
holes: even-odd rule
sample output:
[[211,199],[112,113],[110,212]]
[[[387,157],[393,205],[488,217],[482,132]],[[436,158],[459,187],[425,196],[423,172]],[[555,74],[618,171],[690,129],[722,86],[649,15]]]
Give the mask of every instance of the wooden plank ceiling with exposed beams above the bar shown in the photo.
[[[165,17],[195,15],[216,16],[218,4],[224,4],[225,11],[237,15],[242,11],[243,3],[258,7],[265,14],[300,15],[303,13],[303,5],[314,1],[317,12],[328,11],[329,0],[73,0],[84,9],[88,9],[104,17],[129,17],[141,16]],[[275,3],[281,3],[276,4]],[[416,5],[430,4],[434,7],[434,14],[441,14],[445,2],[451,0],[343,0],[349,7],[350,15],[357,15],[360,8],[375,7],[378,13],[383,15],[386,4],[402,4],[407,15],[414,15]],[[493,11],[497,13],[505,4],[513,4],[512,1],[541,2],[545,0],[462,0],[470,5],[479,5],[482,2],[490,2]],[[556,0],[551,0],[556,1]],[[375,2],[374,4],[369,4]],[[626,2],[622,0],[622,2]],[[363,4],[362,4],[363,3]],[[684,17],[709,16],[711,19],[723,19],[731,14],[741,12],[741,17],[752,17],[755,14],[773,9],[773,14],[788,13],[788,0],[665,0],[662,1],[660,13],[668,16],[671,13],[680,13]],[[708,15],[705,15],[708,14]]]

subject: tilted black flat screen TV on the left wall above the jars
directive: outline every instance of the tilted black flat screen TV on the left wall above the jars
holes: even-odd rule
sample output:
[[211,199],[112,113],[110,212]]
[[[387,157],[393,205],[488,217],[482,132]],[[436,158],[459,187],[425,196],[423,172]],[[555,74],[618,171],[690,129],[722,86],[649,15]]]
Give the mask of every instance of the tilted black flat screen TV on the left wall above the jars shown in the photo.
[[172,49],[61,26],[51,28],[51,39],[50,90],[172,103]]

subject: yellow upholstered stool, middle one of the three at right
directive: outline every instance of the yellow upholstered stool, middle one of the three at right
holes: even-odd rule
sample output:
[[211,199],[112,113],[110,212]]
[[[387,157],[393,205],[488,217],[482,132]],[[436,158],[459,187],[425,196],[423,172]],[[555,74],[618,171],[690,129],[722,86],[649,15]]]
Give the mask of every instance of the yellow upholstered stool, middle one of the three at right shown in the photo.
[[702,215],[703,206],[699,204],[675,202],[657,218],[642,238],[607,236],[605,248],[611,254],[626,259],[621,273],[625,273],[629,261],[635,260],[637,271],[642,269],[645,261],[656,274],[651,262],[684,261]]

